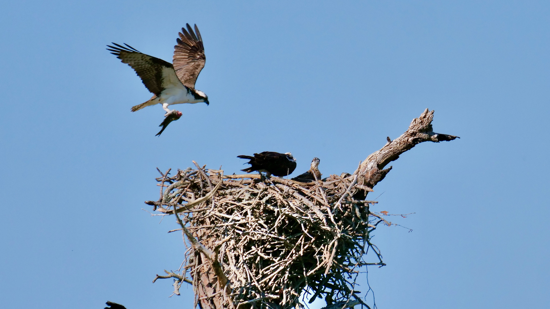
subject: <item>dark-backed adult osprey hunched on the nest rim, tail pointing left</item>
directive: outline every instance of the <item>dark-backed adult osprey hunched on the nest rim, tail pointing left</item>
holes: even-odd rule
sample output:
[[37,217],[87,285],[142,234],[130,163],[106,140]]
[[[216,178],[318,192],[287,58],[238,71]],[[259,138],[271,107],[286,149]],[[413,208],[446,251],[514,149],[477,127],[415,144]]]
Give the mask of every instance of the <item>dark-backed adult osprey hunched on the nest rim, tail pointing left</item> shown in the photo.
[[[241,159],[249,159],[247,162],[252,166],[246,169],[241,169],[243,172],[251,173],[255,170],[259,173],[266,173],[267,176],[272,174],[275,176],[288,176],[294,172],[296,168],[296,159],[292,156],[292,153],[278,153],[272,151],[264,151],[260,153],[254,153],[254,157],[251,156],[237,156]],[[245,163],[246,164],[246,163]]]

